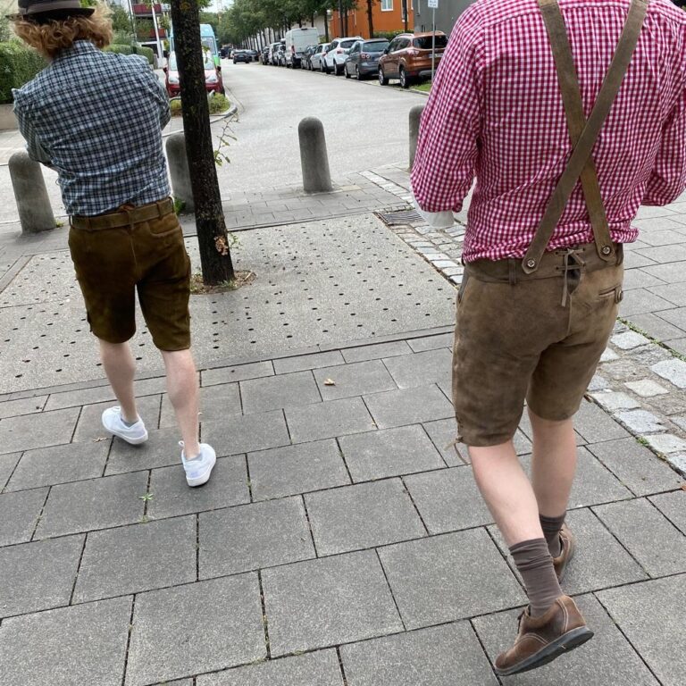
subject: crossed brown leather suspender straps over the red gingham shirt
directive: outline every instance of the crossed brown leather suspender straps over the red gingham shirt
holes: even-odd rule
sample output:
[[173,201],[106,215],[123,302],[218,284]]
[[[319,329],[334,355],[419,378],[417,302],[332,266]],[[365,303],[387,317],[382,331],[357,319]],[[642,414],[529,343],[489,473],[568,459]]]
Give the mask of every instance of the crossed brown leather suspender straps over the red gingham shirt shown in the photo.
[[632,54],[636,48],[640,29],[648,10],[648,2],[649,0],[632,0],[612,63],[607,70],[590,117],[586,121],[583,114],[579,80],[574,68],[572,48],[569,44],[560,7],[556,0],[539,0],[540,12],[546,24],[553,57],[555,58],[557,80],[562,91],[573,152],[565,171],[557,182],[552,197],[548,201],[548,206],[531,241],[531,246],[524,255],[522,269],[527,274],[531,274],[539,268],[540,259],[548,246],[557,222],[565,211],[565,205],[580,176],[581,188],[589,210],[598,255],[605,261],[610,261],[615,256],[615,248],[610,238],[605,207],[598,188],[598,175],[591,152],[632,60]]

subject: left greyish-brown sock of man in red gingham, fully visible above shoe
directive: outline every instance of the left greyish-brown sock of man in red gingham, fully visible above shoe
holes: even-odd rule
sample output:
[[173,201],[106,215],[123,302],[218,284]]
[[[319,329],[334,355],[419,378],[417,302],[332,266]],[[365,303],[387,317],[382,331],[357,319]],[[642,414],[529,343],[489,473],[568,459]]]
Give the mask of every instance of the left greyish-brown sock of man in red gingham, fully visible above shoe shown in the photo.
[[557,598],[564,595],[557,581],[553,558],[545,539],[523,540],[510,548],[515,565],[529,596],[532,617],[543,615]]

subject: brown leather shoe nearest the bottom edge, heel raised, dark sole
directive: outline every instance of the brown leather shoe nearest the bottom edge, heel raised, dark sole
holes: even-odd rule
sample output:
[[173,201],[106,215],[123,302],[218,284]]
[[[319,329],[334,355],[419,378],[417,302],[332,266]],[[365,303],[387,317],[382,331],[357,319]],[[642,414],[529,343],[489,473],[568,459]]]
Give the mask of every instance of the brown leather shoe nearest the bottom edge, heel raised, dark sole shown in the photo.
[[527,672],[581,646],[593,636],[572,598],[560,596],[544,615],[531,618],[527,607],[519,615],[515,645],[496,658],[501,676]]

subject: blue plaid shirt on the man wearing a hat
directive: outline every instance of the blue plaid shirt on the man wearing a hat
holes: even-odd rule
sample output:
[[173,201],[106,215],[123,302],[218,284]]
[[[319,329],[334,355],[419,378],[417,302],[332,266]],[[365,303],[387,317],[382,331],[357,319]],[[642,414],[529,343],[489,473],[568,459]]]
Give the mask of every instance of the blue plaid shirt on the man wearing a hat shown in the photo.
[[29,155],[58,172],[67,213],[93,216],[170,195],[162,151],[169,101],[145,58],[78,40],[13,95]]

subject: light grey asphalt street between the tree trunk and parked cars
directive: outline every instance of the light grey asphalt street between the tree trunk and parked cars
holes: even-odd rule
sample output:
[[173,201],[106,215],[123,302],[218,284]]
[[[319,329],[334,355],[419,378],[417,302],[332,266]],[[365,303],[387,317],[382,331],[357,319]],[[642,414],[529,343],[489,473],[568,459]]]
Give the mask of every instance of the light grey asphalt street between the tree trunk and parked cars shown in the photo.
[[[227,96],[238,105],[231,163],[219,170],[222,191],[256,191],[302,182],[297,125],[324,125],[331,178],[407,159],[407,117],[426,96],[357,83],[343,76],[222,60]],[[222,124],[214,124],[219,133]],[[226,201],[227,198],[224,197]]]

